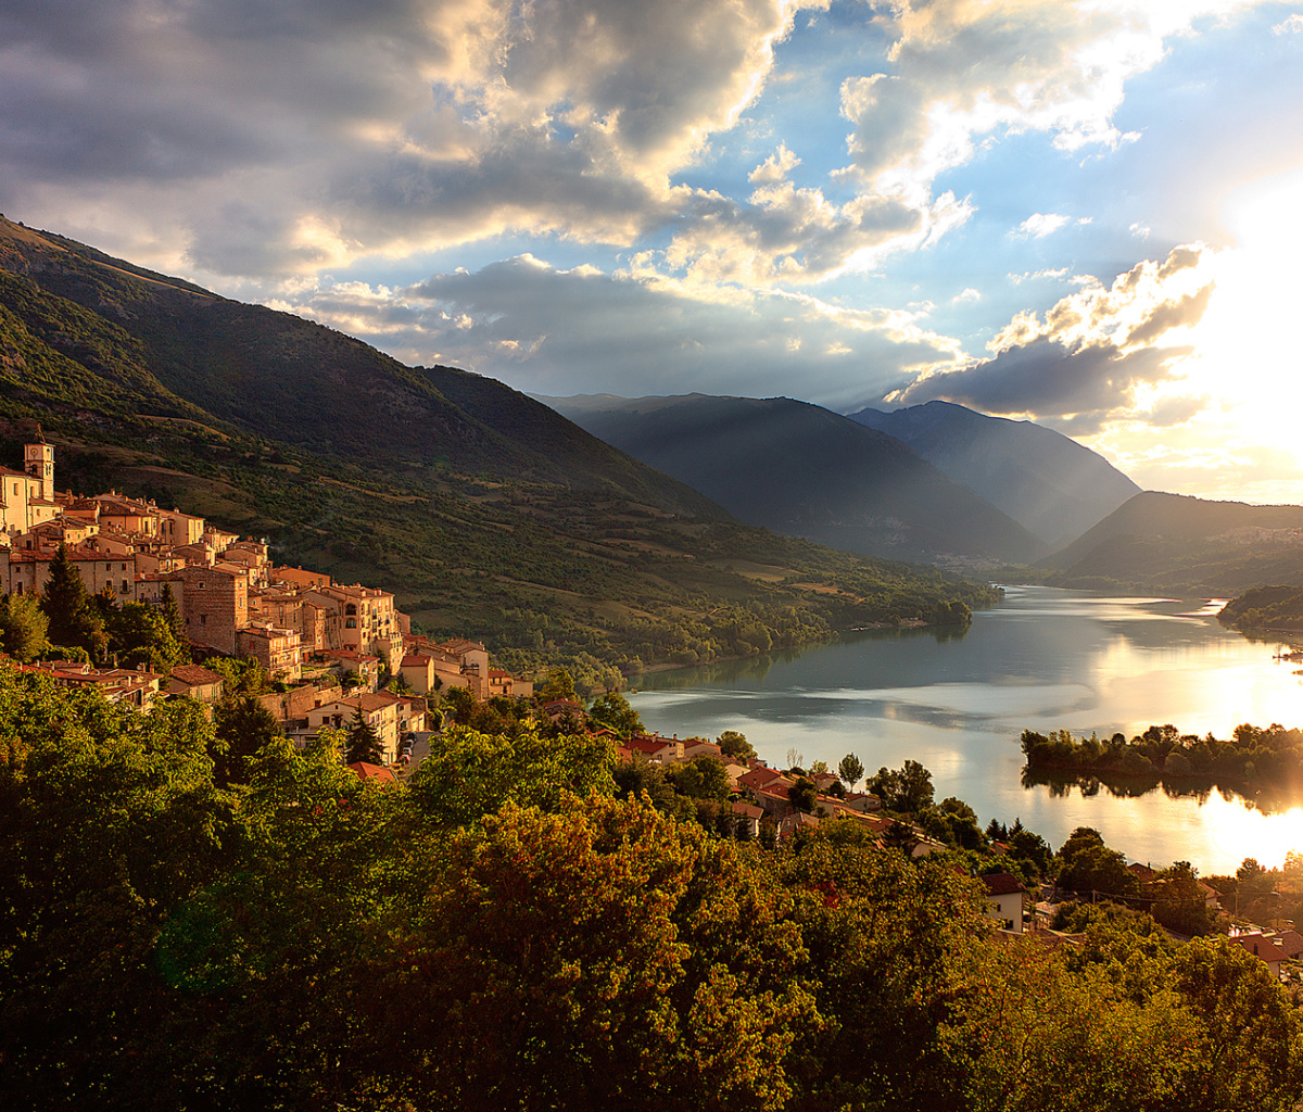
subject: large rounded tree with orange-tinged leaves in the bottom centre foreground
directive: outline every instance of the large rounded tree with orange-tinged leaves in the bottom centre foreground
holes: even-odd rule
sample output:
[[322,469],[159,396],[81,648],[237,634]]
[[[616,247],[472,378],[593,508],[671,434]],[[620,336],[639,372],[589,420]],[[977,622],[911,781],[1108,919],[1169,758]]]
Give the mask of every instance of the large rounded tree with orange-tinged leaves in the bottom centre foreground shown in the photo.
[[[792,897],[757,855],[589,799],[507,806],[440,856],[420,929],[357,978],[360,1051],[399,1096],[465,1112],[786,1103],[787,1052],[816,1017]],[[395,1061],[399,1044],[416,1049]]]

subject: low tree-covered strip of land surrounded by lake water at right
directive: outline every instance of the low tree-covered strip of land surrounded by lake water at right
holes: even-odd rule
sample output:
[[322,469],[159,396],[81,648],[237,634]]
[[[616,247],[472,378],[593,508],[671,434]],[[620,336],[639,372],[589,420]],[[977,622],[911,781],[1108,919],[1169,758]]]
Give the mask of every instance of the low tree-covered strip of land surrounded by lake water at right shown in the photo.
[[1175,726],[1151,726],[1130,742],[1123,734],[1074,738],[1067,730],[1045,735],[1024,730],[1024,780],[1052,786],[1076,783],[1093,790],[1101,782],[1135,791],[1158,783],[1171,791],[1210,786],[1255,797],[1270,807],[1303,787],[1303,730],[1280,725],[1235,727],[1230,739],[1182,734]]

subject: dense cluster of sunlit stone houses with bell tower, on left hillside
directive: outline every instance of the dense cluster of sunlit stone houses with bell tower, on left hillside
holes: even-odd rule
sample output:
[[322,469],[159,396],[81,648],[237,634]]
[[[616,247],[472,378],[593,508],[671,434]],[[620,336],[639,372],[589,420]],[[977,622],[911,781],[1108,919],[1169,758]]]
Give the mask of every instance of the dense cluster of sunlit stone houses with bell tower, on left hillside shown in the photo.
[[[60,550],[87,594],[160,607],[171,593],[198,656],[251,658],[279,682],[283,691],[263,701],[293,740],[361,716],[394,764],[403,739],[426,727],[422,696],[456,687],[477,700],[533,691],[530,680],[490,667],[482,644],[412,634],[387,591],[276,566],[266,544],[177,508],[116,490],[57,491],[53,447],[40,437],[23,447],[23,471],[0,467],[0,593],[42,594]],[[223,677],[197,664],[165,677],[60,661],[39,667],[64,686],[99,687],[141,709],[160,691],[210,703],[222,696]],[[379,690],[386,674],[409,694]]]

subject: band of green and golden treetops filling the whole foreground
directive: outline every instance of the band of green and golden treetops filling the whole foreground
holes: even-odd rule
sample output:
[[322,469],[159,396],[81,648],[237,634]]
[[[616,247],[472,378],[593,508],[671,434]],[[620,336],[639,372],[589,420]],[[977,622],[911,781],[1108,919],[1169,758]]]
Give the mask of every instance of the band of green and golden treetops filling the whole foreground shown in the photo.
[[605,743],[456,727],[378,789],[337,742],[220,786],[197,704],[0,673],[0,1105],[1296,1108],[1224,941],[994,944],[949,862],[718,838]]

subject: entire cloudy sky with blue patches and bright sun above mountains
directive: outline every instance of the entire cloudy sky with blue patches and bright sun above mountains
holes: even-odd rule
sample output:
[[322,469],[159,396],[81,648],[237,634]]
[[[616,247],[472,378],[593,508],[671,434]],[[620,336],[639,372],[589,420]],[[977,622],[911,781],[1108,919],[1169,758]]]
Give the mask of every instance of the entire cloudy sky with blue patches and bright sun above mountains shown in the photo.
[[0,0],[0,211],[528,392],[1303,503],[1303,0]]

